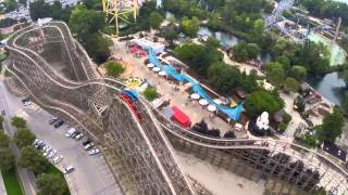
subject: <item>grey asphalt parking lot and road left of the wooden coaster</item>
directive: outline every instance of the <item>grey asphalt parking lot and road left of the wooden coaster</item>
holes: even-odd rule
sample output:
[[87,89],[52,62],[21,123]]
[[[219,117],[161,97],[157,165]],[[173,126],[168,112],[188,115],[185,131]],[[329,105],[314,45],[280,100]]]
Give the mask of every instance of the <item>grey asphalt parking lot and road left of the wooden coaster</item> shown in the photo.
[[[59,168],[73,165],[75,171],[66,174],[72,194],[78,195],[119,195],[122,194],[121,187],[114,180],[111,170],[105,164],[101,154],[89,156],[83,148],[82,142],[64,136],[66,126],[54,129],[48,123],[52,117],[36,105],[24,107],[21,100],[11,94],[3,82],[0,82],[0,108],[5,109],[7,123],[11,116],[20,115],[27,120],[29,129],[32,129],[39,140],[44,140],[47,144],[58,151],[58,155],[63,156],[63,160],[59,164]],[[13,134],[11,127],[10,134]],[[35,194],[34,176],[25,170],[18,170],[24,188],[27,195]],[[23,172],[24,171],[24,172]],[[34,191],[33,191],[34,190]]]

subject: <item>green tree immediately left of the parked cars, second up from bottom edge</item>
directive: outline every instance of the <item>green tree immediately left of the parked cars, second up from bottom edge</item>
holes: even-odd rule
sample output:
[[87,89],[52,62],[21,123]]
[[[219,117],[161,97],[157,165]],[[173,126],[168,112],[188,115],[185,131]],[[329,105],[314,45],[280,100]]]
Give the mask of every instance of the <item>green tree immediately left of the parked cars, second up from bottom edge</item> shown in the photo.
[[17,161],[18,166],[27,168],[35,174],[40,174],[49,168],[49,161],[40,155],[33,146],[22,148],[21,157]]

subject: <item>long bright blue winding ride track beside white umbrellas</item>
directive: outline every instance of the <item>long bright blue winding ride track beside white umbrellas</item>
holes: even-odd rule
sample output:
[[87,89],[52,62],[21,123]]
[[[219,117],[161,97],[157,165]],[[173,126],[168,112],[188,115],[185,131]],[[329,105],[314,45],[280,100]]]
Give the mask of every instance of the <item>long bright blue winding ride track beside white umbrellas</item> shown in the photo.
[[216,104],[200,87],[199,82],[194,78],[189,77],[188,75],[182,75],[175,70],[175,68],[170,65],[162,65],[162,63],[157,58],[156,53],[152,48],[146,48],[149,55],[149,63],[152,63],[154,66],[161,68],[166,75],[173,77],[175,80],[179,82],[190,82],[190,86],[195,93],[199,94],[201,98],[206,99],[209,104],[216,106],[217,110],[227,115],[231,119],[237,121],[240,119],[240,114],[243,112],[243,103],[238,104],[235,107],[228,107],[224,105]]

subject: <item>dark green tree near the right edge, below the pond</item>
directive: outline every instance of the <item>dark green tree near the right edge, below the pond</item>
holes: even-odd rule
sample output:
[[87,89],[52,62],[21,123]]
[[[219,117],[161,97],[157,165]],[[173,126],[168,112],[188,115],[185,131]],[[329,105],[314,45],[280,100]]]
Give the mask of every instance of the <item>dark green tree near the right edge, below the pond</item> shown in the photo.
[[344,116],[338,108],[334,113],[324,117],[323,123],[318,128],[318,140],[334,143],[341,135],[344,127]]

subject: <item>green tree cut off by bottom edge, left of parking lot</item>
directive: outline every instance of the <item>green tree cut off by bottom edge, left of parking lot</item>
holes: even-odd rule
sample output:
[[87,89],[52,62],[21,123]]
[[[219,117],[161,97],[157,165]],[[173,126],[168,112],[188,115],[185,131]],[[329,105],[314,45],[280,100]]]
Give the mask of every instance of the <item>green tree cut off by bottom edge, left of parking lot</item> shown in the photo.
[[65,181],[59,174],[42,173],[36,179],[38,195],[63,195],[69,191]]

